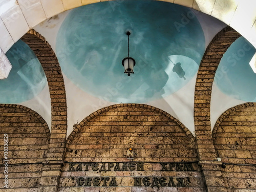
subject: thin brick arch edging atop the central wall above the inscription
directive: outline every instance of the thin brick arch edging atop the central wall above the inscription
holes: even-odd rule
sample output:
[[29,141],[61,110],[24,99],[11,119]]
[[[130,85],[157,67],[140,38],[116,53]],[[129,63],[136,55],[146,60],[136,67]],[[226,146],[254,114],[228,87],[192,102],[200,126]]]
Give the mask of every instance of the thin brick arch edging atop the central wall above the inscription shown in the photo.
[[77,124],[74,127],[74,131],[69,135],[68,139],[67,139],[67,144],[66,144],[66,148],[69,147],[69,144],[71,143],[71,141],[74,139],[74,136],[79,132],[79,130],[81,129],[81,127],[88,123],[91,119],[99,116],[100,114],[106,113],[111,109],[115,109],[115,108],[121,108],[121,107],[126,107],[126,106],[131,106],[131,107],[135,107],[135,108],[144,108],[144,109],[150,109],[152,112],[157,112],[158,114],[161,114],[167,118],[169,118],[170,120],[174,121],[179,127],[180,129],[185,133],[185,135],[189,138],[191,144],[195,147],[195,137],[193,136],[193,134],[191,134],[191,132],[187,129],[187,127],[185,125],[183,125],[178,119],[174,118],[172,115],[168,114],[167,112],[160,110],[158,108],[155,108],[154,106],[151,105],[147,105],[147,104],[132,104],[132,103],[122,103],[122,104],[114,104],[111,106],[107,106],[105,108],[102,108],[100,110],[97,110],[96,112],[92,113],[91,115],[89,115],[88,117],[84,118],[79,124]]

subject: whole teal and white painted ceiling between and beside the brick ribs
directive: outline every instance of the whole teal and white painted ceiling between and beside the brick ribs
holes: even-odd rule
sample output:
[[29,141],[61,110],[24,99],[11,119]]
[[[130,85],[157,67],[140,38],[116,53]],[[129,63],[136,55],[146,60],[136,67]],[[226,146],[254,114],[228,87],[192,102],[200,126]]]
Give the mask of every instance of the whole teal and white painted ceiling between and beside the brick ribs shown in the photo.
[[[209,42],[224,27],[190,8],[143,0],[91,4],[36,26],[56,52],[63,73],[68,134],[74,123],[115,103],[156,106],[193,133],[197,71]],[[128,53],[127,31],[130,56],[136,60],[131,76],[124,74],[121,63]],[[212,88],[212,125],[228,108],[255,101],[256,77],[248,63],[253,53],[241,37],[223,56]],[[19,40],[7,56],[13,69],[0,81],[0,102],[22,103],[50,126],[49,89],[33,51]]]

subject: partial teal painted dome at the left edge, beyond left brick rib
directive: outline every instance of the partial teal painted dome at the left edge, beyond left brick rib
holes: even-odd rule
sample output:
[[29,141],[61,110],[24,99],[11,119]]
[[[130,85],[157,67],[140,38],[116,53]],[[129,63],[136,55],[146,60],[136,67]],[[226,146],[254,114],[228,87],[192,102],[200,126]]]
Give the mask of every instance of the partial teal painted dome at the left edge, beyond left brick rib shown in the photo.
[[34,98],[46,86],[47,79],[34,52],[18,40],[6,53],[12,69],[0,80],[0,103],[21,103]]

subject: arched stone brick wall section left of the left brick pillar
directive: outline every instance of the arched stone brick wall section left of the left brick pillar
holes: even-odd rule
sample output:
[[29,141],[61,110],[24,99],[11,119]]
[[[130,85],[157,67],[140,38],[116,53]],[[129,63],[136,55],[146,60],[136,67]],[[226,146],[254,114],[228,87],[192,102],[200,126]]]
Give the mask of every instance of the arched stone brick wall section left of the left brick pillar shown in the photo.
[[46,160],[50,131],[40,115],[22,105],[0,105],[0,158],[4,160],[4,135],[8,135],[8,182],[0,167],[0,191],[37,191]]

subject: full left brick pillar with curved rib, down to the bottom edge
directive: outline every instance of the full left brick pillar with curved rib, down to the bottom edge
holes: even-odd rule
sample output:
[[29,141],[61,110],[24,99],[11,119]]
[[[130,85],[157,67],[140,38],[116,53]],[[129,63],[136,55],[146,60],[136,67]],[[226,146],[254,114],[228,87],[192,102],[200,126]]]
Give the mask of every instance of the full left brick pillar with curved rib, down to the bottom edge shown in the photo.
[[58,59],[49,43],[35,30],[22,40],[34,51],[45,71],[51,97],[52,129],[46,165],[43,168],[39,191],[57,191],[67,134],[67,101],[65,85]]

